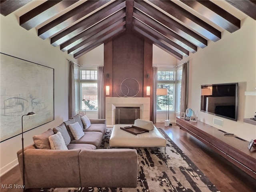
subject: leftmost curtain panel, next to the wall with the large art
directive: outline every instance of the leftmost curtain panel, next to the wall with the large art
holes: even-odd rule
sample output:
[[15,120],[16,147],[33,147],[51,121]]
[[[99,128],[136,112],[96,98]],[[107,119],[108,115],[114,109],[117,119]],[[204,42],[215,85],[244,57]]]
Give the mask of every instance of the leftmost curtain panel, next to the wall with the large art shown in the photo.
[[68,61],[68,66],[68,117],[72,118],[76,115],[74,62]]

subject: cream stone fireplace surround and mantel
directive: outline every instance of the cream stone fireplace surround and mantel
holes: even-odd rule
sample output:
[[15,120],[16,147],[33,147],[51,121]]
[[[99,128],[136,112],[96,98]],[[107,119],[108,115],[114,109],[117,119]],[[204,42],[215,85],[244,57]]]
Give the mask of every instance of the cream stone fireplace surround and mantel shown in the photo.
[[140,107],[140,118],[150,120],[149,97],[106,97],[106,121],[109,126],[114,125],[116,107]]

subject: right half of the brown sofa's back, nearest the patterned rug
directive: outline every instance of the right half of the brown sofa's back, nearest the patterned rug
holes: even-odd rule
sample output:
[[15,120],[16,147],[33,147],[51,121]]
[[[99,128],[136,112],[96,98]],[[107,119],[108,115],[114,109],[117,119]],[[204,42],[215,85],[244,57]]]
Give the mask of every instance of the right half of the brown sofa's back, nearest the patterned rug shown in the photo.
[[135,149],[81,150],[79,162],[82,186],[137,186],[138,154]]

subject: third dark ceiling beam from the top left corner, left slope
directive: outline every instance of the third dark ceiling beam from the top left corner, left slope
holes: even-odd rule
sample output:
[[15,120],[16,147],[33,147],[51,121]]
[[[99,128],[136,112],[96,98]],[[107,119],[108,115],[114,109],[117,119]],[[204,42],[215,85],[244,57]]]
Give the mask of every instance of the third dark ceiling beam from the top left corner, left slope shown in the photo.
[[50,23],[46,24],[45,26],[39,28],[38,36],[42,39],[49,38],[50,36],[53,36],[54,34],[60,32],[61,30],[64,30],[65,28],[73,25],[74,22],[90,14],[92,11],[100,8],[107,2],[109,2],[109,0],[86,1],[83,4],[51,21]]

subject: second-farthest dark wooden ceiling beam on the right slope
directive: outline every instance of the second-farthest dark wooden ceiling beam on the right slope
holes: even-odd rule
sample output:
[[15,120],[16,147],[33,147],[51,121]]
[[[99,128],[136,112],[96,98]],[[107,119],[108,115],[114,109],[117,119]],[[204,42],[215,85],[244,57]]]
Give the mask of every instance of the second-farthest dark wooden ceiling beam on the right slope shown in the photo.
[[174,43],[173,41],[171,41],[170,39],[166,38],[165,36],[163,36],[162,34],[158,33],[157,31],[153,30],[152,28],[150,28],[149,26],[145,25],[144,23],[140,22],[139,20],[135,19],[133,20],[132,23],[134,26],[140,28],[141,30],[143,30],[144,32],[146,32],[147,34],[149,34],[150,36],[152,36],[153,38],[157,39],[158,41],[162,42],[163,44],[165,44],[166,46],[170,47],[172,50],[178,52],[179,54],[181,54],[182,56],[188,56],[189,51],[184,49],[183,47],[179,46],[178,44]]

